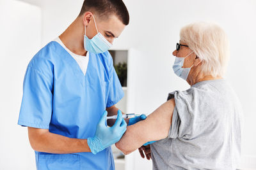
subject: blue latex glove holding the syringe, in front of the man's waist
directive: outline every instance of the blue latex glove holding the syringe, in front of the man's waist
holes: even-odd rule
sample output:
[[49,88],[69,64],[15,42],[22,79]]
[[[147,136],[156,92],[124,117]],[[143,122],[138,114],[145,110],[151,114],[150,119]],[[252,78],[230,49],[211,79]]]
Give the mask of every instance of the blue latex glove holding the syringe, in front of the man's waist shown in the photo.
[[118,110],[116,122],[112,127],[106,126],[108,112],[104,111],[93,138],[88,138],[87,143],[93,154],[96,154],[108,146],[113,145],[122,138],[126,131],[127,124],[122,117],[122,111]]

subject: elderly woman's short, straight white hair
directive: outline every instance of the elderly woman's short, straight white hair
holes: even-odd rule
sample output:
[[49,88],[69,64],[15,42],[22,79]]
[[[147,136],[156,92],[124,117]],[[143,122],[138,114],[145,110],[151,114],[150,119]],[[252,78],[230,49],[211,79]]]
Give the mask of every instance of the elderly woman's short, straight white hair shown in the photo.
[[230,55],[227,34],[219,25],[195,22],[180,30],[180,41],[186,43],[202,60],[202,72],[223,76]]

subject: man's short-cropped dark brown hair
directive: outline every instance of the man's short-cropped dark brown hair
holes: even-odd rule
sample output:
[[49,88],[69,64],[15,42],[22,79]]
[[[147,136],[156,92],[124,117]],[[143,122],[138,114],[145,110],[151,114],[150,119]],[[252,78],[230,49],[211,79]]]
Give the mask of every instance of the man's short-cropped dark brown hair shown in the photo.
[[84,0],[79,16],[86,11],[96,13],[103,18],[116,15],[124,25],[129,24],[129,12],[122,0]]

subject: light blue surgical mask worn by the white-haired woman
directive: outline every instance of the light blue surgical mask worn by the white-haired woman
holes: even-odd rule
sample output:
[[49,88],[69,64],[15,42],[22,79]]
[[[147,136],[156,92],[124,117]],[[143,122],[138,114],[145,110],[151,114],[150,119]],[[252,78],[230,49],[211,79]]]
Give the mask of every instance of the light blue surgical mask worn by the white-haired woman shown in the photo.
[[[191,52],[191,53],[193,53],[193,52]],[[191,55],[191,53],[189,53],[189,55]],[[187,80],[189,71],[191,70],[191,67],[194,66],[194,64],[193,64],[191,67],[182,68],[182,66],[184,64],[184,60],[187,57],[189,57],[189,55],[187,55],[186,57],[176,57],[174,64],[172,66],[174,73],[177,76],[179,76],[180,78],[183,78],[184,80]]]

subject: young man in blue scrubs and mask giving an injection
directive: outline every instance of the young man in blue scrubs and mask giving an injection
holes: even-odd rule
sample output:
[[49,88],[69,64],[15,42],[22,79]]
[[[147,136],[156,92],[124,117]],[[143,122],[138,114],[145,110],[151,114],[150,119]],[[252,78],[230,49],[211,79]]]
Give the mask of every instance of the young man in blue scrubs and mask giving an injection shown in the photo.
[[37,169],[115,169],[110,146],[127,124],[115,107],[124,92],[108,49],[128,24],[122,0],[85,0],[67,30],[29,62],[18,124],[28,127]]

